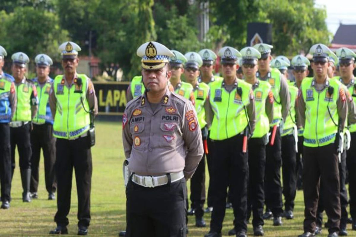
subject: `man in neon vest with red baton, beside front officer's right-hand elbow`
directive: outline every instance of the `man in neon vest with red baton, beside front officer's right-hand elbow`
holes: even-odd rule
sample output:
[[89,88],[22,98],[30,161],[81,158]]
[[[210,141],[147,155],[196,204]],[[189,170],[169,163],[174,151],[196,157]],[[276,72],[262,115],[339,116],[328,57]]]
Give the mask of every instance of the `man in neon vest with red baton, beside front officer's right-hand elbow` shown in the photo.
[[[199,68],[203,64],[203,60],[198,53],[188,52],[185,55],[187,62],[184,65],[184,76],[188,83],[193,86],[195,111],[197,111],[198,124],[201,128],[201,135],[204,144],[203,158],[199,162],[197,170],[195,171],[190,182],[190,200],[192,201],[192,208],[195,214],[195,226],[205,227],[204,203],[205,203],[205,153],[207,152],[208,127],[205,121],[204,103],[209,93],[209,86],[204,82],[198,82],[200,74]],[[209,151],[208,151],[209,153]]]

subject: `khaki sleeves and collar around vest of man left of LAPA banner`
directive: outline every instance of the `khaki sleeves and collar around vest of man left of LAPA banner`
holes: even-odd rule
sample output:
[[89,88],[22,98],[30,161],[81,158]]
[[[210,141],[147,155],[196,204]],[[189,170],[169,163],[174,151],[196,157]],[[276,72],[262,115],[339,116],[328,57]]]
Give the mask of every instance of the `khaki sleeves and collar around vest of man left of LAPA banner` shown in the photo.
[[[68,84],[68,81],[66,80],[66,75],[63,75],[63,79],[64,79],[64,86],[68,87],[69,89],[73,86],[74,84],[74,79],[77,78],[78,79],[78,74],[75,73],[72,84]],[[51,112],[52,112],[52,117],[54,120],[54,117],[56,116],[56,109],[57,109],[57,98],[56,98],[56,93],[54,92],[54,88],[53,88],[54,83],[52,83],[51,86],[51,92],[49,92],[49,107],[51,108]],[[94,110],[94,116],[96,116],[98,114],[98,100],[96,99],[96,95],[95,95],[95,90],[94,90],[94,85],[93,82],[91,82],[91,80],[88,78],[88,89],[87,89],[87,101],[89,104],[89,108]]]

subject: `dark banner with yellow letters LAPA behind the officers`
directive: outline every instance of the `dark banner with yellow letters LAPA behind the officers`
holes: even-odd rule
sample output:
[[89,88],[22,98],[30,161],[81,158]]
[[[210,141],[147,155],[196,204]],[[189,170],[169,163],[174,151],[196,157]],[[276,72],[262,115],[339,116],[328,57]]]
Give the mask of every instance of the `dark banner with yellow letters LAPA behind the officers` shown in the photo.
[[130,82],[93,82],[98,97],[99,115],[122,115]]

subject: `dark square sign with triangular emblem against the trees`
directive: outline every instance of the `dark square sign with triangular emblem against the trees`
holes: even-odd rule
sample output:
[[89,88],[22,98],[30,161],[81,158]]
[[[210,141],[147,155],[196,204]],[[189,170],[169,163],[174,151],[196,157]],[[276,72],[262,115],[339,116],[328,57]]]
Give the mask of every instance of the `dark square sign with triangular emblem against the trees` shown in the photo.
[[272,44],[272,24],[252,22],[247,24],[247,46]]

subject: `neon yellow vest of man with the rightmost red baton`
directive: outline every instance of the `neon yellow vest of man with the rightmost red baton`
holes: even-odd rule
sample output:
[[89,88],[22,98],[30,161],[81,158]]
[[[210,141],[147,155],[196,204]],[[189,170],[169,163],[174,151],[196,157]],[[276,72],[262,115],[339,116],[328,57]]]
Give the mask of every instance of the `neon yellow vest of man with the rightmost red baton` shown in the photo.
[[[259,74],[257,74],[257,76],[259,76]],[[266,81],[271,85],[271,91],[274,97],[273,121],[269,124],[269,126],[273,127],[274,125],[278,125],[282,119],[282,104],[281,98],[279,97],[279,91],[281,90],[281,72],[279,72],[277,68],[272,68],[271,72],[267,74]]]

